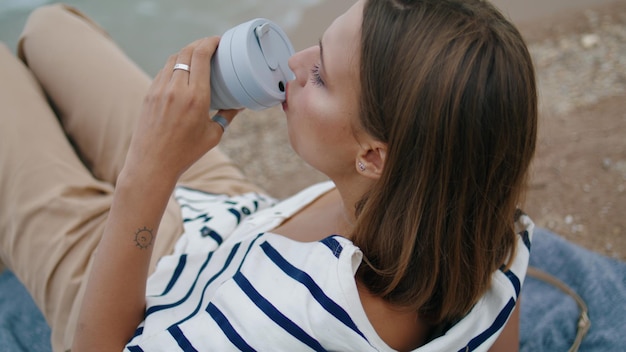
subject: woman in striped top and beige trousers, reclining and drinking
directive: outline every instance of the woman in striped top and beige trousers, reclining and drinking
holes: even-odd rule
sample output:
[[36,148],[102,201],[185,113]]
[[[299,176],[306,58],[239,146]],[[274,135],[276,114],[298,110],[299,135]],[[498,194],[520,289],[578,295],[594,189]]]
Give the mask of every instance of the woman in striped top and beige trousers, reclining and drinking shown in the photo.
[[491,5],[360,0],[294,55],[290,141],[332,182],[283,202],[216,149],[218,38],[170,57],[147,88],[99,32],[75,10],[42,9],[20,42],[28,69],[3,71],[30,81],[1,92],[14,116],[2,119],[1,197],[15,204],[2,259],[55,349],[449,351],[515,338],[515,319],[504,325],[528,263],[532,223],[516,205],[536,92],[523,40]]

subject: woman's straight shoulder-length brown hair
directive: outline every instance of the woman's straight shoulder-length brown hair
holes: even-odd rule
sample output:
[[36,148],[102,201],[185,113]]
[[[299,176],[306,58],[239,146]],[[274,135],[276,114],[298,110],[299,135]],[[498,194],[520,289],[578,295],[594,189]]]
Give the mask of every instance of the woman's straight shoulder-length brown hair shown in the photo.
[[515,251],[537,129],[531,57],[485,1],[368,0],[360,75],[362,128],[388,151],[357,206],[357,277],[454,321]]

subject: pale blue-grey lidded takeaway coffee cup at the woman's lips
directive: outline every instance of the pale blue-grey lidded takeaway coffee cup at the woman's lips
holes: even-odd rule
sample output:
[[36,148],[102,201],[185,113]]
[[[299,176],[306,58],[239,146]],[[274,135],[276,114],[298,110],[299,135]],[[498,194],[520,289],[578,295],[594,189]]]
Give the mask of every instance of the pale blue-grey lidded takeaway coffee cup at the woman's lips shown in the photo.
[[285,32],[267,19],[226,31],[211,59],[211,109],[262,110],[285,101],[293,54]]

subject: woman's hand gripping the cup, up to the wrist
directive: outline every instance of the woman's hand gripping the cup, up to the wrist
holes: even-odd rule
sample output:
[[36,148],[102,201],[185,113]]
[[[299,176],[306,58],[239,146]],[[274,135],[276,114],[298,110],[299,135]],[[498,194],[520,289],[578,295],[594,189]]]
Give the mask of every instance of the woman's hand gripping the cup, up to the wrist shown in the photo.
[[[215,147],[222,127],[211,120],[211,57],[219,37],[197,40],[172,55],[146,95],[133,135],[125,171],[158,174],[170,181]],[[186,64],[189,71],[174,70]],[[229,122],[237,110],[218,112]]]

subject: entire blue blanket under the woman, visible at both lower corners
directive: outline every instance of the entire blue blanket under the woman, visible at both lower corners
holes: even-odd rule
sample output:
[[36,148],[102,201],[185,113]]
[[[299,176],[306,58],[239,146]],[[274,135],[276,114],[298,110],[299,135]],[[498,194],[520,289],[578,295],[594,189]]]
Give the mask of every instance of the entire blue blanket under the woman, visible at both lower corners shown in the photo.
[[[531,265],[573,288],[589,307],[591,329],[581,351],[624,351],[626,263],[576,246],[538,229]],[[567,351],[576,336],[576,302],[532,277],[522,289],[520,349]],[[28,292],[9,271],[0,275],[0,351],[50,351],[50,329]]]

